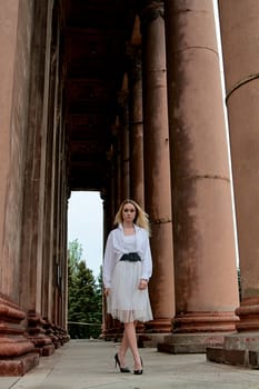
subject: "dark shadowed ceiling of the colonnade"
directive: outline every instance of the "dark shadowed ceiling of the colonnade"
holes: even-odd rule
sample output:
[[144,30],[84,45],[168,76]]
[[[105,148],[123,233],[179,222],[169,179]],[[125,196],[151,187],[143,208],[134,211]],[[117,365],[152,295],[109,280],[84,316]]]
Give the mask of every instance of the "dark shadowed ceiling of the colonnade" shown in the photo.
[[64,0],[66,126],[70,189],[101,190],[109,180],[111,126],[126,70],[135,0]]

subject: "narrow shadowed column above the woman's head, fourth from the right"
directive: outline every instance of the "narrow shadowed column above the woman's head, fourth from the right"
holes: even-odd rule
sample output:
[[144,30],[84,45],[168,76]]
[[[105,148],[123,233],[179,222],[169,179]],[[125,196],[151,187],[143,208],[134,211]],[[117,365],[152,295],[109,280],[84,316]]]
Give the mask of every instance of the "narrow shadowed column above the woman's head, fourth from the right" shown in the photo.
[[130,197],[145,207],[142,59],[139,47],[128,47],[130,93]]

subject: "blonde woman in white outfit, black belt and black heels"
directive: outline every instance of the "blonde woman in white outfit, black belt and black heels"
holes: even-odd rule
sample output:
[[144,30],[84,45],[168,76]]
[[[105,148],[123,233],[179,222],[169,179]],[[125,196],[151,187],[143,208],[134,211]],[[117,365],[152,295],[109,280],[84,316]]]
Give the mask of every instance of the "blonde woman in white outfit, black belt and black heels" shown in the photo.
[[128,348],[135,360],[135,375],[142,375],[135,322],[152,320],[148,281],[152,273],[147,213],[133,200],[124,200],[114,218],[116,229],[107,239],[103,261],[107,311],[124,323],[119,352],[114,356],[121,372]]

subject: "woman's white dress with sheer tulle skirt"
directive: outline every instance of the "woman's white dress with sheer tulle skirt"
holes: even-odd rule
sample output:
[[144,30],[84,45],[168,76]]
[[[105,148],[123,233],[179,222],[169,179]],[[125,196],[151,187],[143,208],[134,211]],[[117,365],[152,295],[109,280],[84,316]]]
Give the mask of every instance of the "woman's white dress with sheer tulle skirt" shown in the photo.
[[[136,235],[123,236],[124,250],[136,251]],[[111,277],[111,292],[107,298],[107,311],[121,322],[152,320],[148,288],[139,290],[141,261],[119,261]]]

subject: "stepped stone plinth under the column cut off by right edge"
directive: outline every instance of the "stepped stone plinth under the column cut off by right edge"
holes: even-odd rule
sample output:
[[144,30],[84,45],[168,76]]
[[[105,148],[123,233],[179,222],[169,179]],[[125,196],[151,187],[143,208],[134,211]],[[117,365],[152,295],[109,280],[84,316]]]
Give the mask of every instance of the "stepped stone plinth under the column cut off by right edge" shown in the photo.
[[206,355],[211,362],[259,369],[259,331],[228,335],[222,347],[208,347]]

